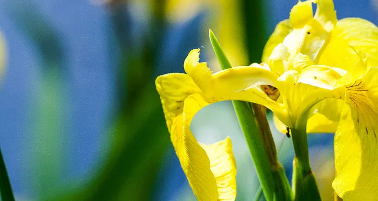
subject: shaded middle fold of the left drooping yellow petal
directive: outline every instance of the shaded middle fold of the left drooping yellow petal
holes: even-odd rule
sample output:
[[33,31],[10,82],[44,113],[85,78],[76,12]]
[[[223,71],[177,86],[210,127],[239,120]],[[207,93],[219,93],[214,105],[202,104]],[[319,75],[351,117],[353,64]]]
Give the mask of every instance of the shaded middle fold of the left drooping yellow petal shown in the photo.
[[217,200],[217,183],[210,169],[210,160],[190,130],[194,115],[207,106],[200,94],[184,100],[183,114],[178,116],[171,141],[189,184],[198,200]]

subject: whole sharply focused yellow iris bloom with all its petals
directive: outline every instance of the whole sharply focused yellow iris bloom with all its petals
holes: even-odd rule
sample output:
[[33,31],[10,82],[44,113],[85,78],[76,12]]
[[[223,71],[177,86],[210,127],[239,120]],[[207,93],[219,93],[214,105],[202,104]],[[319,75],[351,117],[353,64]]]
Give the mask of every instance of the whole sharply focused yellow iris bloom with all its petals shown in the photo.
[[[317,3],[313,16],[312,3]],[[184,61],[186,74],[156,79],[171,141],[199,200],[234,200],[231,141],[203,145],[190,131],[201,108],[222,100],[264,105],[280,127],[335,132],[336,193],[344,200],[378,200],[378,28],[338,21],[332,0],[298,2],[270,37],[263,62],[212,74],[200,50]],[[276,87],[271,99],[260,85]],[[308,121],[307,121],[308,120]]]

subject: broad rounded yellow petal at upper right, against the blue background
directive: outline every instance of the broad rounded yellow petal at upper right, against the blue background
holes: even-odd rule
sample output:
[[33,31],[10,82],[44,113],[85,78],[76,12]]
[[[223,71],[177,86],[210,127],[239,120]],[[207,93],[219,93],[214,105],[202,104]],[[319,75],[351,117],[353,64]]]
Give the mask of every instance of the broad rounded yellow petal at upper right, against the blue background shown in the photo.
[[360,60],[350,46],[365,53],[370,65],[378,66],[378,28],[359,18],[346,18],[337,22],[319,64],[349,71]]

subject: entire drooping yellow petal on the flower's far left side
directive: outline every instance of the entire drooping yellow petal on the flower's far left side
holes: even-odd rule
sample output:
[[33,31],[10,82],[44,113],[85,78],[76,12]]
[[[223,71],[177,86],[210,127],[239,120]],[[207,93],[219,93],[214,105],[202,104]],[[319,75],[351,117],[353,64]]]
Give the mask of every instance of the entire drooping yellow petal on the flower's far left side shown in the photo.
[[234,199],[236,166],[230,140],[204,146],[190,130],[194,115],[209,105],[200,94],[202,91],[190,76],[182,73],[159,76],[156,88],[173,147],[197,199]]

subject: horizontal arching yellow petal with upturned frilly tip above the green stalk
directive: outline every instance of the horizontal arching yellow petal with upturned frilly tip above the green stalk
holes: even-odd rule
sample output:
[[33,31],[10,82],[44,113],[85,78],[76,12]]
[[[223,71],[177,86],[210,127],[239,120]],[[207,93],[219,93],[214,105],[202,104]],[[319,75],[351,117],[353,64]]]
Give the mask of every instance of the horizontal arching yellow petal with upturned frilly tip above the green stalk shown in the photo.
[[286,108],[269,98],[259,85],[271,85],[280,90],[278,75],[267,69],[253,66],[228,68],[214,75],[199,63],[199,49],[192,50],[184,62],[185,72],[190,75],[207,97],[209,103],[222,100],[243,100],[263,105],[272,110],[283,122],[288,123]]

